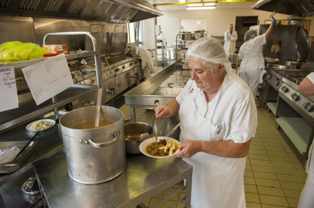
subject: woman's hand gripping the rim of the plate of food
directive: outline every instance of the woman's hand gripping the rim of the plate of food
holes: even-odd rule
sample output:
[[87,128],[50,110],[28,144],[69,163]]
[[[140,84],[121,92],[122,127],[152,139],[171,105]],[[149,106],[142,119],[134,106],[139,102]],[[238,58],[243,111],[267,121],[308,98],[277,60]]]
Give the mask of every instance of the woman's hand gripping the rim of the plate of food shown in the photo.
[[190,158],[202,149],[201,141],[188,140],[179,145],[180,152],[175,157],[187,157]]

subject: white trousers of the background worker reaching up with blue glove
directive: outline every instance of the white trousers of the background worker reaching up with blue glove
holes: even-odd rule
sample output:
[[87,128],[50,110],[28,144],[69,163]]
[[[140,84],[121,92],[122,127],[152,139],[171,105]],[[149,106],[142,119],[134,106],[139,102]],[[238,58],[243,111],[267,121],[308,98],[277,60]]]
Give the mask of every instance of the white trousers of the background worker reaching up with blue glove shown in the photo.
[[254,97],[256,96],[257,89],[260,84],[261,74],[262,74],[262,69],[255,69],[253,71],[243,71],[243,72],[240,71],[240,77],[243,79],[243,81],[245,81],[249,85]]

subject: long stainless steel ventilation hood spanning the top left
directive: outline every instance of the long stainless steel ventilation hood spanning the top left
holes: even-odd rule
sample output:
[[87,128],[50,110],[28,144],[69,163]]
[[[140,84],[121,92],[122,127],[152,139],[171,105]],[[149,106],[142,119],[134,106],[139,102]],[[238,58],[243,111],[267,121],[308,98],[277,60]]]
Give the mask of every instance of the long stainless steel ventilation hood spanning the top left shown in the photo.
[[2,0],[0,14],[115,23],[164,15],[146,0]]

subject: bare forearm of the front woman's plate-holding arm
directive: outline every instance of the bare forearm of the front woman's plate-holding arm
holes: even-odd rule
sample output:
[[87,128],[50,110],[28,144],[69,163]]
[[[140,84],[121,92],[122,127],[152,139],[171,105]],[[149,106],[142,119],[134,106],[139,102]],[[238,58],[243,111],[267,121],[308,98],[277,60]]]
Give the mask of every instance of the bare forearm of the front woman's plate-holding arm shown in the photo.
[[227,141],[199,141],[200,151],[211,155],[228,158],[246,157],[251,140],[246,143],[234,143],[232,140]]

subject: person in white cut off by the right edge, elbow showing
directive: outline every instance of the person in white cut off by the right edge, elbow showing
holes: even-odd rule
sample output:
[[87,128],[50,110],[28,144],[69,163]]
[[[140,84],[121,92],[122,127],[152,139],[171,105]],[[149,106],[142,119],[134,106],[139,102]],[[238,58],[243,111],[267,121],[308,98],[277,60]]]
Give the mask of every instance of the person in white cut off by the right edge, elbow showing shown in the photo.
[[[314,95],[314,72],[308,74],[300,83],[299,90],[306,96]],[[313,142],[308,151],[306,163],[307,178],[300,195],[298,208],[314,207],[314,147]]]

